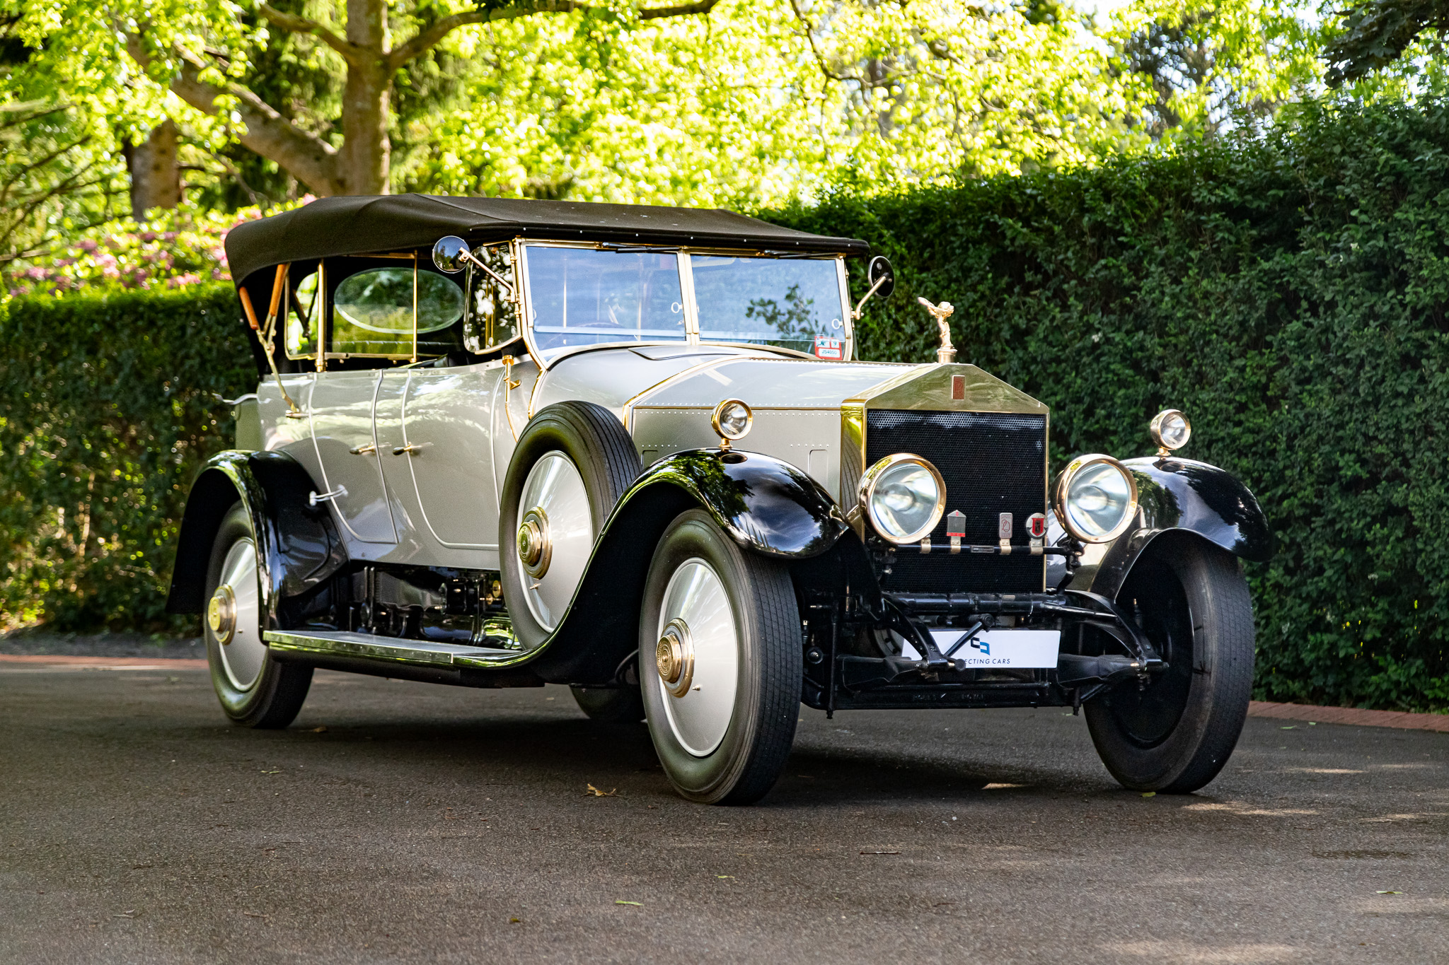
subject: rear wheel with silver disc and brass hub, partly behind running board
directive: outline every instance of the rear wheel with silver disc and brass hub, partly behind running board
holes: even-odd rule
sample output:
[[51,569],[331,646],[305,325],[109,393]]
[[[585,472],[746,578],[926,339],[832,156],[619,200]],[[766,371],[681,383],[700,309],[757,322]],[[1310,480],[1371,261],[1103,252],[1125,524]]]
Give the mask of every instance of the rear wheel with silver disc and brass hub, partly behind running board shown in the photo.
[[201,632],[222,710],[246,728],[287,726],[307,699],[312,667],[277,663],[262,639],[256,537],[239,502],[216,532],[206,590]]

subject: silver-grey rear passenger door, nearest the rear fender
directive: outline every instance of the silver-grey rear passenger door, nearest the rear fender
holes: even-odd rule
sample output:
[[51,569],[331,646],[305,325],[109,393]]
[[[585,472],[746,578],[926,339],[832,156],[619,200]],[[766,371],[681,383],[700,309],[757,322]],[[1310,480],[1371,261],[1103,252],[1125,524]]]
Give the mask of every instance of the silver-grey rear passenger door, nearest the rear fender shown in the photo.
[[361,543],[397,543],[374,433],[383,370],[322,372],[312,389],[312,440],[342,525]]

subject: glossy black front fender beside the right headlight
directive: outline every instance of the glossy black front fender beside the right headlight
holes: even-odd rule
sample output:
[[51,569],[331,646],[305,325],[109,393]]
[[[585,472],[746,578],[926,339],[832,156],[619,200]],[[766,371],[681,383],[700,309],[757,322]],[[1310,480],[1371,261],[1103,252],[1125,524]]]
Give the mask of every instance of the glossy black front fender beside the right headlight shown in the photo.
[[1106,548],[1095,566],[1078,569],[1069,589],[1114,598],[1148,545],[1172,531],[1194,532],[1256,563],[1272,556],[1272,532],[1262,506],[1226,469],[1155,456],[1127,459],[1123,464],[1137,480],[1136,524]]

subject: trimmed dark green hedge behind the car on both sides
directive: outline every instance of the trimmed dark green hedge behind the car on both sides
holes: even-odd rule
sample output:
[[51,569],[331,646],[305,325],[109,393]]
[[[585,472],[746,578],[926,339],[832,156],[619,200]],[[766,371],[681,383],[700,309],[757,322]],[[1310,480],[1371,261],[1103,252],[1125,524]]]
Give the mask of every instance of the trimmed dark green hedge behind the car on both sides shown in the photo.
[[[1449,107],[1308,110],[1256,143],[768,213],[897,266],[864,357],[961,359],[1052,407],[1056,464],[1185,454],[1258,493],[1258,696],[1449,706]],[[855,275],[861,272],[856,271]],[[858,279],[856,279],[858,281]],[[859,291],[856,292],[861,294]],[[226,286],[0,317],[0,611],[167,626],[184,489],[255,385]],[[190,626],[190,622],[187,624]]]

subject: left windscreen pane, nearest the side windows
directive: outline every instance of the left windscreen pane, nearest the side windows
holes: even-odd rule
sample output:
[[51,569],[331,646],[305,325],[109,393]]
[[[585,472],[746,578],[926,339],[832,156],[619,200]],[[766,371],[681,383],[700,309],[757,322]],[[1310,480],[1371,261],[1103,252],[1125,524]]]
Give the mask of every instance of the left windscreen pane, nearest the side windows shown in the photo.
[[533,339],[545,356],[606,341],[684,341],[680,259],[665,252],[526,249]]

